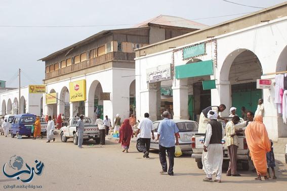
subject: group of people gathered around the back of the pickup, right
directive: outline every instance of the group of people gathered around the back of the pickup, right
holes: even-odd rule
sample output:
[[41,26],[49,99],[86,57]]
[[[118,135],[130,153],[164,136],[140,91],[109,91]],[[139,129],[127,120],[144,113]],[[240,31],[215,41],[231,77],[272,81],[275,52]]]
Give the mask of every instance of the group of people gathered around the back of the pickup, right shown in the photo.
[[[203,181],[213,181],[212,175],[215,173],[216,179],[214,181],[221,182],[222,174],[222,163],[223,163],[223,145],[222,139],[225,136],[225,145],[228,149],[228,154],[230,157],[229,167],[227,170],[227,176],[241,176],[237,173],[237,149],[238,149],[238,134],[242,134],[244,131],[247,145],[250,151],[250,156],[253,161],[255,170],[257,171],[256,180],[269,179],[269,167],[272,169],[273,176],[275,179],[275,159],[272,148],[272,141],[269,140],[267,130],[263,123],[262,114],[264,112],[263,100],[259,99],[258,108],[256,110],[256,115],[251,111],[246,112],[246,119],[242,120],[235,114],[236,108],[230,108],[230,115],[232,117],[230,121],[226,123],[225,130],[223,125],[218,121],[221,118],[218,112],[225,110],[225,105],[211,106],[203,109],[201,114],[204,114],[206,110],[207,117],[201,115],[201,128],[204,128],[202,121],[208,122],[206,125],[206,136],[204,138],[204,146],[202,153],[202,165],[203,170],[206,172],[207,177]],[[203,120],[204,119],[204,120]],[[241,121],[240,121],[241,120]],[[200,122],[199,122],[200,126]],[[245,128],[243,130],[242,128]],[[204,131],[204,129],[201,129]]]

